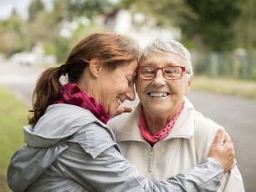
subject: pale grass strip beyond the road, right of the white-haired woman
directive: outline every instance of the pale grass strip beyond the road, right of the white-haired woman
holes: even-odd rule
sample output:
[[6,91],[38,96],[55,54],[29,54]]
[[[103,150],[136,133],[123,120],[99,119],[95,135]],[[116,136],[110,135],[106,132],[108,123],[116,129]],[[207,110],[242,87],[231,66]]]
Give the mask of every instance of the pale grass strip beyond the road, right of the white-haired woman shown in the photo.
[[256,99],[256,81],[194,76],[192,82],[192,91],[218,93],[246,99]]

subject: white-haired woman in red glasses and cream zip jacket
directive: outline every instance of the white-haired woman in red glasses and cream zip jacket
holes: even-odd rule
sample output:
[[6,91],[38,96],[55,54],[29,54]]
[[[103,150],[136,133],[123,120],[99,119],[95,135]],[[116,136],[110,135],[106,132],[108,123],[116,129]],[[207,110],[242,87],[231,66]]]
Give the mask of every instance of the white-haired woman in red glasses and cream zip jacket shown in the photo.
[[[207,156],[218,124],[198,113],[186,98],[192,84],[190,53],[181,43],[156,40],[136,68],[140,104],[109,122],[125,159],[147,179],[161,180],[193,167]],[[219,191],[244,191],[236,166]]]

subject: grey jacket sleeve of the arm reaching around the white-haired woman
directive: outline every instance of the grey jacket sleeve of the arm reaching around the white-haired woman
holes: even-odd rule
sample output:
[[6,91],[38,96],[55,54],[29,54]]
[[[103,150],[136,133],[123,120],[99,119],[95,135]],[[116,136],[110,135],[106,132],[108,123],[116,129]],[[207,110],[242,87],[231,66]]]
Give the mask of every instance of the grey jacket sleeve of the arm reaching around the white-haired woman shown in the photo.
[[[96,131],[95,131],[96,130]],[[88,133],[95,132],[98,137],[90,141]],[[93,142],[110,142],[110,134],[105,129],[87,128],[83,137],[87,145]],[[107,141],[108,140],[108,141]],[[81,141],[79,141],[81,142]],[[152,182],[139,175],[135,166],[127,161],[112,146],[95,154],[89,146],[71,144],[69,149],[60,154],[56,164],[59,171],[90,191],[216,191],[223,179],[223,168],[215,159],[204,159],[193,169],[158,182]],[[99,149],[97,149],[98,151]]]

